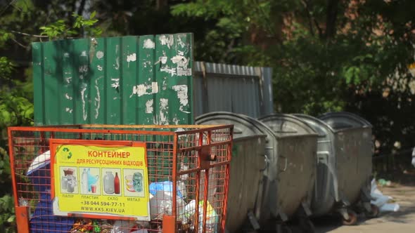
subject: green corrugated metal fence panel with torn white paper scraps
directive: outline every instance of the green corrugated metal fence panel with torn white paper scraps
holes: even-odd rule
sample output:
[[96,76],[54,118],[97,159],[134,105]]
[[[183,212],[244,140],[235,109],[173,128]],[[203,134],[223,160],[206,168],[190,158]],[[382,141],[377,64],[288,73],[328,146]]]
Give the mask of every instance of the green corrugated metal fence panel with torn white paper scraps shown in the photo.
[[32,44],[34,124],[193,124],[193,34]]

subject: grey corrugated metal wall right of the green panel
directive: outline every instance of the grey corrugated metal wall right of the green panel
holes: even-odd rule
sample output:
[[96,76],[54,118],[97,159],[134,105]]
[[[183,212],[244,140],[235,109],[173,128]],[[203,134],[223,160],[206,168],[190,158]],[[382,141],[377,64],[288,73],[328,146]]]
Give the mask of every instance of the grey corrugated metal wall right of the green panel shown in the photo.
[[254,118],[274,112],[272,68],[195,62],[196,116],[226,111]]

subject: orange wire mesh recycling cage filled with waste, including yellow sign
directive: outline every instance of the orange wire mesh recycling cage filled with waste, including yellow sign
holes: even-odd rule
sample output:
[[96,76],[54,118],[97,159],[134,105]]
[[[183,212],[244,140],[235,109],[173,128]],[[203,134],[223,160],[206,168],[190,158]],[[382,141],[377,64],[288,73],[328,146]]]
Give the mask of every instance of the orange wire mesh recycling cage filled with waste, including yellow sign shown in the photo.
[[224,232],[232,133],[8,128],[18,232]]

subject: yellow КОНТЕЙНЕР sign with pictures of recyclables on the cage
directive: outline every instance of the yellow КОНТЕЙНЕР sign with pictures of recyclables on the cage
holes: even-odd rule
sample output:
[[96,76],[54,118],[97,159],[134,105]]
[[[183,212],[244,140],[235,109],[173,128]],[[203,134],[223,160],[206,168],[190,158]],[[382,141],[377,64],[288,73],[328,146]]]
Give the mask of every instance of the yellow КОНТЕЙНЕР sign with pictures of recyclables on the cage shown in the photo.
[[144,144],[65,142],[51,141],[55,215],[150,220]]

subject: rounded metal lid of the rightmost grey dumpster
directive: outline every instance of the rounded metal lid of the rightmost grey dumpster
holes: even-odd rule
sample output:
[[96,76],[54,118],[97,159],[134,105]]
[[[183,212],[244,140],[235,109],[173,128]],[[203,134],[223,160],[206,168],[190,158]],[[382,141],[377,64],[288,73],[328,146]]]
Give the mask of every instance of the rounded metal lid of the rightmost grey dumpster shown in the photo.
[[346,128],[371,128],[372,125],[366,119],[357,114],[350,112],[328,112],[318,117],[321,121],[326,122],[335,131],[341,131]]

